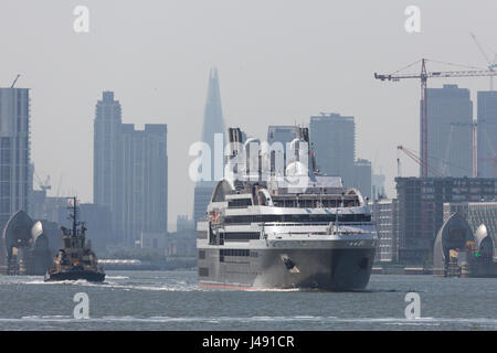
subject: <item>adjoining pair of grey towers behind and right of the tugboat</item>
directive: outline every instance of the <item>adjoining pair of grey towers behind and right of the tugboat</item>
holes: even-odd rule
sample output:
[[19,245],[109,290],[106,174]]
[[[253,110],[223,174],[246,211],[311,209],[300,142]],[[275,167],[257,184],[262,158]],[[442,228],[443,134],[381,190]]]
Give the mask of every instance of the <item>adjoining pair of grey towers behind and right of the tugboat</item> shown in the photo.
[[167,232],[167,126],[135,130],[120,116],[114,93],[104,92],[95,116],[94,202],[109,206],[108,243],[134,246],[144,232]]

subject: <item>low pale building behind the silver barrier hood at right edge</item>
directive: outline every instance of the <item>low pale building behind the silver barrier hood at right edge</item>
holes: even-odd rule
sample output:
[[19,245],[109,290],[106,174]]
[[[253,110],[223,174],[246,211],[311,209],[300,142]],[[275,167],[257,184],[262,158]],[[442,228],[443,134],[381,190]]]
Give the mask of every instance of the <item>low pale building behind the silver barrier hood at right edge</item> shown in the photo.
[[[497,245],[497,202],[447,202],[444,203],[444,222],[454,213],[458,212],[466,220],[472,232],[485,224],[488,234],[493,237],[494,244]],[[494,254],[497,257],[497,253]]]

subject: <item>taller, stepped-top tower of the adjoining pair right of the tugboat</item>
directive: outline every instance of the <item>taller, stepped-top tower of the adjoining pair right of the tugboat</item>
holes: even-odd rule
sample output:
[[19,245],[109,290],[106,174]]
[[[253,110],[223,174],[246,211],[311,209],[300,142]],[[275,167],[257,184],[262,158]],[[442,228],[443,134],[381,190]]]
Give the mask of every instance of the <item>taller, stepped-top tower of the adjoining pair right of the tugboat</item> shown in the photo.
[[[123,233],[121,108],[113,92],[97,101],[94,121],[93,200],[108,206],[114,233]],[[112,238],[110,243],[119,243]]]

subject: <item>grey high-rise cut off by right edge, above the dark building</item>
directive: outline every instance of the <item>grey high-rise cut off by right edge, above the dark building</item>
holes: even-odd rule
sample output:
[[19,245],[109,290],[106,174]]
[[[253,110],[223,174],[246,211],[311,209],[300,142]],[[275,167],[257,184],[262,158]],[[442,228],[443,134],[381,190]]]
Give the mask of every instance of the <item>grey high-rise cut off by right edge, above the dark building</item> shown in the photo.
[[478,176],[497,178],[497,90],[478,92]]

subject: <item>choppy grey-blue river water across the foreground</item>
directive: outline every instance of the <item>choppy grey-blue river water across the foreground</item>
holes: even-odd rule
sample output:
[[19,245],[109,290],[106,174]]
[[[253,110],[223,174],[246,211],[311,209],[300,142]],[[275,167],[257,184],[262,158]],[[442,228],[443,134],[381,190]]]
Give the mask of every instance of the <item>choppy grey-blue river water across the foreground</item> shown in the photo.
[[[88,298],[75,319],[74,296]],[[419,319],[406,319],[416,292]],[[0,276],[0,330],[497,330],[497,279],[372,275],[362,292],[214,290],[195,271],[108,271],[105,282]]]

